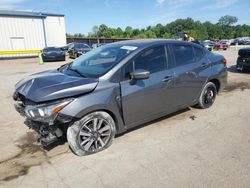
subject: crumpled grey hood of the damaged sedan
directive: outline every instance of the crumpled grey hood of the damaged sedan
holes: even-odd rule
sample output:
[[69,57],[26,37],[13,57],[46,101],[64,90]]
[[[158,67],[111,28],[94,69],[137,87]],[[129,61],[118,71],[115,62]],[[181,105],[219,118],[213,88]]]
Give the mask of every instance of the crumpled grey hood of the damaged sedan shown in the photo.
[[33,102],[45,102],[89,93],[95,89],[98,79],[63,74],[58,70],[30,75],[19,81],[16,93]]

